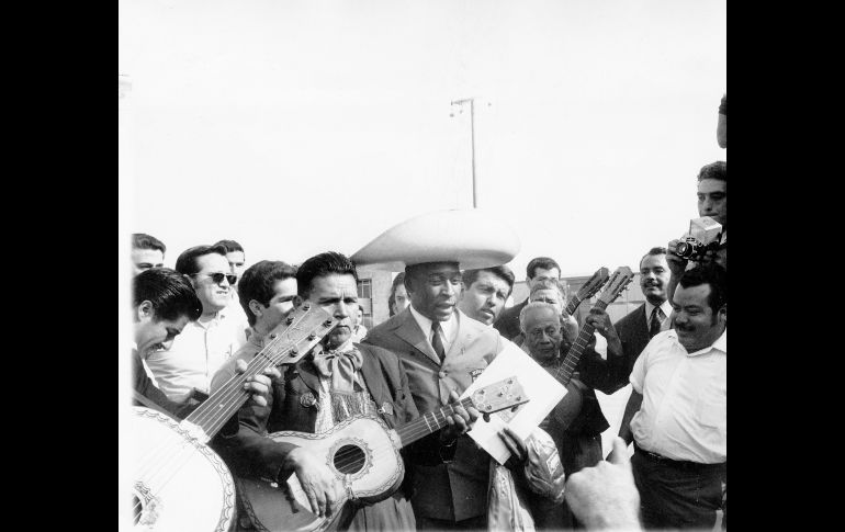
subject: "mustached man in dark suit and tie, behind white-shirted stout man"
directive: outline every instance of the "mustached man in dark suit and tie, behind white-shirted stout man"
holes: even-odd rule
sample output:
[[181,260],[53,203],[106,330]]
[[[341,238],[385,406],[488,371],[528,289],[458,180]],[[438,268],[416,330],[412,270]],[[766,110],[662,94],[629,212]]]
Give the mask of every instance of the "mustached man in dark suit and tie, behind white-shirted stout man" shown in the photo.
[[[608,336],[619,337],[622,356],[613,363],[613,390],[628,385],[634,362],[654,335],[669,328],[672,304],[668,302],[669,267],[666,248],[655,247],[640,259],[640,287],[645,303],[608,327]],[[615,331],[613,331],[615,329]]]

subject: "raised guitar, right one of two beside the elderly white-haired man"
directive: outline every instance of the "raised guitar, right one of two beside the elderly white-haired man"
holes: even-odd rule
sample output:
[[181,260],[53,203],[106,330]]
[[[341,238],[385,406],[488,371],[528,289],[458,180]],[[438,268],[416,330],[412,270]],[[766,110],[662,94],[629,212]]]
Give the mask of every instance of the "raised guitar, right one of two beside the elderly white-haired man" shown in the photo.
[[[631,272],[630,268],[618,268],[610,276],[610,280],[607,281],[607,285],[601,292],[598,302],[596,302],[595,308],[600,308],[601,310],[606,309],[607,306],[613,303],[613,301],[619,297],[622,291],[626,290],[626,287],[633,280],[633,272]],[[568,307],[566,307],[566,309],[568,310]],[[566,387],[567,392],[563,399],[561,399],[561,403],[559,403],[553,410],[555,420],[564,429],[572,425],[572,422],[581,412],[582,406],[584,405],[584,392],[581,389],[578,384],[576,384],[576,382],[572,382],[572,375],[578,367],[581,355],[593,340],[593,333],[595,331],[596,328],[594,326],[590,324],[584,324],[584,327],[582,327],[581,331],[578,332],[578,338],[573,342],[570,351],[566,353],[566,356],[563,359],[563,362],[554,374],[554,377]],[[547,417],[547,423],[550,417]],[[543,427],[543,425],[541,425],[541,427]]]

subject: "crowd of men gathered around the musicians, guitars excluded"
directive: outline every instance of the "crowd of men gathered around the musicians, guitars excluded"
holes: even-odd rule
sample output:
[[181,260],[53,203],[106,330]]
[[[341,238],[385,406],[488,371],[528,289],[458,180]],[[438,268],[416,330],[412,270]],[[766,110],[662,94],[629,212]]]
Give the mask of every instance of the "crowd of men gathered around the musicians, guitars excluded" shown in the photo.
[[[726,97],[719,122],[724,147],[722,115],[726,121]],[[488,250],[449,235],[437,250],[419,248],[414,235],[392,237],[387,248],[408,259],[393,281],[390,318],[368,330],[357,265],[378,257],[328,251],[297,265],[259,260],[245,269],[244,248],[221,240],[182,251],[171,270],[164,267],[165,244],[135,234],[136,405],[183,419],[244,373],[295,308],[319,306],[337,326],[298,362],[247,378],[249,400],[212,449],[238,477],[284,484],[295,475],[309,510],[336,519],[340,530],[487,530],[494,512],[502,522],[502,508],[492,508],[502,499],[492,496],[491,456],[466,434],[481,414],[457,404],[459,396],[509,346],[560,378],[589,325],[595,336],[565,382],[566,396],[537,428],[538,441],[553,442],[555,455],[543,460],[551,469],[559,461],[565,482],[531,474],[541,451],[511,431],[500,434],[511,450],[504,467],[518,488],[508,511],[528,519],[510,528],[711,530],[721,511],[724,529],[725,162],[701,168],[697,189],[699,216],[721,225],[718,246],[692,259],[678,252],[681,239],[645,251],[639,260],[645,302],[616,322],[596,307],[582,324],[567,314],[568,286],[550,257],[528,263],[529,296],[506,308],[515,273],[478,262]],[[604,450],[609,423],[595,390],[613,394],[629,383],[619,435]],[[343,488],[329,464],[307,446],[268,438],[325,432],[358,415],[398,430],[449,404],[444,428],[402,449],[404,478],[370,503],[341,503]],[[260,530],[243,510],[239,499],[234,529]]]

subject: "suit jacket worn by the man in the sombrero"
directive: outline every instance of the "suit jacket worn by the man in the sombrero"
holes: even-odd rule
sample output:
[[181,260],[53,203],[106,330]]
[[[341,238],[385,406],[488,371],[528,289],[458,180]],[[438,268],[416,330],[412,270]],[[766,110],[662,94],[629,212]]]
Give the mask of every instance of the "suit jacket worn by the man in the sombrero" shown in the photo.
[[[363,340],[396,353],[420,414],[446,406],[450,389],[463,393],[505,348],[497,330],[458,309],[455,314],[458,333],[442,365],[408,308],[371,329]],[[470,437],[464,434],[447,448],[432,434],[408,451],[415,514],[451,521],[486,514],[491,459]]]

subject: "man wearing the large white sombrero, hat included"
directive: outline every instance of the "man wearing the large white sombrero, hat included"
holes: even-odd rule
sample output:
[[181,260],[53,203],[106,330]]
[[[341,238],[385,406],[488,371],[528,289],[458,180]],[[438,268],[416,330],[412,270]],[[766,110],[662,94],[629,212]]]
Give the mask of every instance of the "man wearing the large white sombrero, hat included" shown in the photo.
[[[516,235],[496,217],[444,211],[403,222],[351,257],[357,265],[405,271],[410,306],[371,329],[363,343],[399,358],[420,412],[457,398],[505,348],[497,330],[455,306],[461,269],[500,265],[518,250]],[[477,417],[471,414],[470,423],[455,419],[415,445],[408,473],[420,530],[486,529],[491,457],[465,435]]]

